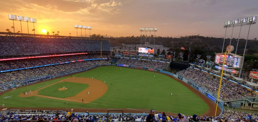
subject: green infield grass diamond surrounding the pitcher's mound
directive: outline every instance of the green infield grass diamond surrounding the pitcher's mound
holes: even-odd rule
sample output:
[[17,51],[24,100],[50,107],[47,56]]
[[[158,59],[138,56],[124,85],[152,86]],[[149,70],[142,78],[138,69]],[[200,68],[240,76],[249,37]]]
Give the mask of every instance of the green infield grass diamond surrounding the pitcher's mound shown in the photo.
[[[65,86],[67,90],[63,90],[63,91],[57,90],[59,88],[63,88],[63,86]],[[61,82],[39,90],[38,95],[57,97],[57,98],[73,97],[76,94],[83,91],[84,89],[86,89],[88,86],[89,86],[88,84],[82,84],[82,83]]]

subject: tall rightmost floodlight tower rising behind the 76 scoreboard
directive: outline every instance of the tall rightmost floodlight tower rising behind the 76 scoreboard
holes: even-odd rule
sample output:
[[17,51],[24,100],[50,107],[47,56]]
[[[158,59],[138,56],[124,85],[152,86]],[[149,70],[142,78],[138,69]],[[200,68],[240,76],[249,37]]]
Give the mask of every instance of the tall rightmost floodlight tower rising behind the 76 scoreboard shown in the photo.
[[[238,36],[238,40],[237,40],[237,47],[238,47],[238,41],[239,41],[239,38],[240,38],[240,32],[241,32],[242,25],[249,25],[249,30],[248,30],[248,34],[247,34],[246,43],[245,43],[245,50],[246,50],[246,45],[247,45],[247,40],[248,40],[248,36],[249,36],[250,27],[251,27],[251,24],[256,24],[256,20],[257,20],[257,16],[253,16],[253,17],[249,17],[249,18],[243,18],[243,19],[237,19],[237,20],[224,22],[223,26],[224,26],[224,28],[226,28],[226,32],[227,32],[228,27],[233,27],[234,28],[236,26],[240,26],[239,36]],[[232,30],[232,33],[233,33],[233,30]],[[225,36],[226,36],[226,33],[225,33]],[[232,38],[232,34],[231,34],[231,38]],[[224,38],[224,42],[225,42],[225,38]],[[223,53],[224,42],[223,42],[223,46],[222,46],[222,53]],[[231,44],[231,39],[230,39],[230,44]],[[236,47],[236,53],[235,54],[237,54],[237,47]],[[245,57],[245,50],[244,50],[243,57]],[[241,76],[241,72],[242,72],[242,68],[240,68],[240,72],[239,72],[238,77]]]

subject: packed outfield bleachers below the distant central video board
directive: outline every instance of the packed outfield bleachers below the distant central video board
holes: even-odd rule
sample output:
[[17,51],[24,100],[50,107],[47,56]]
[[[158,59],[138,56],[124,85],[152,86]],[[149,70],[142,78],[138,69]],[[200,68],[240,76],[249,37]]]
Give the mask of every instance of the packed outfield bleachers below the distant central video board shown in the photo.
[[120,58],[117,63],[120,64],[128,64],[128,65],[136,65],[136,66],[145,66],[151,68],[160,69],[163,66],[167,66],[169,64],[163,62],[154,62],[149,60],[139,60],[139,59],[130,59],[130,58]]

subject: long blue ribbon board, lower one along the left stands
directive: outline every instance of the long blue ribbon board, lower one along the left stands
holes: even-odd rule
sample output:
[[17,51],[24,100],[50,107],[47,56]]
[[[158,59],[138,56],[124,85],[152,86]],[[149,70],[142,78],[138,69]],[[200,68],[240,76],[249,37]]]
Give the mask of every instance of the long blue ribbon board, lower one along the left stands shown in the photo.
[[[76,60],[76,61],[71,61],[71,62],[80,62],[80,61],[86,61],[86,60],[104,60],[107,58],[95,58],[95,59],[84,59],[84,60]],[[33,67],[26,67],[26,68],[19,68],[19,69],[10,69],[10,70],[4,70],[0,72],[10,72],[10,71],[17,71],[17,70],[22,70],[22,69],[30,69],[30,68],[37,68],[37,67],[43,67],[43,66],[52,66],[52,65],[58,65],[58,64],[67,64],[71,62],[62,62],[62,63],[56,63],[56,64],[47,64],[47,65],[40,65],[40,66],[33,66]]]

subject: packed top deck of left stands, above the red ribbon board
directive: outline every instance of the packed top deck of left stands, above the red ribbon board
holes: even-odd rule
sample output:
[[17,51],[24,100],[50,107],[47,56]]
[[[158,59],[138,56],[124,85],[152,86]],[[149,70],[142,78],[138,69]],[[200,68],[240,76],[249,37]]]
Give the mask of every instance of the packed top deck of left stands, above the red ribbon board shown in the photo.
[[[102,50],[110,51],[109,41],[102,41]],[[0,36],[0,56],[36,53],[62,53],[78,51],[100,51],[98,40],[58,40],[49,38],[12,38]]]

